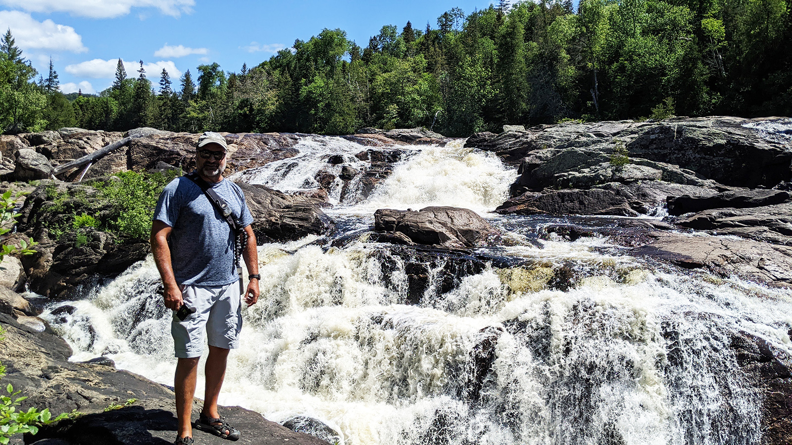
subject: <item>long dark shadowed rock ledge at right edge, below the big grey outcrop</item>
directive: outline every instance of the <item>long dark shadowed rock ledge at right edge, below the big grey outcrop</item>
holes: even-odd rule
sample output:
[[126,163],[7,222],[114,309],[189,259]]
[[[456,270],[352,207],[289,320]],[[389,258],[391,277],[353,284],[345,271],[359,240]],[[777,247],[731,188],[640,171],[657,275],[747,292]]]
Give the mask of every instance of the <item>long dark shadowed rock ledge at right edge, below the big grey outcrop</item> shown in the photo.
[[789,203],[790,201],[792,201],[792,194],[782,190],[733,190],[713,196],[683,195],[668,198],[668,213],[670,215],[683,215],[714,208],[763,207]]

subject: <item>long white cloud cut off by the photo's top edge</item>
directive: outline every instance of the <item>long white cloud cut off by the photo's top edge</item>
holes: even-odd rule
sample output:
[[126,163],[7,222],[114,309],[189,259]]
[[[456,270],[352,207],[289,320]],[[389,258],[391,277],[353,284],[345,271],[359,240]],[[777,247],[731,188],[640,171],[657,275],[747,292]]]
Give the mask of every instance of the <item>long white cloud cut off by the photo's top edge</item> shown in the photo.
[[127,15],[132,8],[156,8],[179,17],[191,13],[195,0],[0,0],[0,5],[35,13],[70,13],[74,16],[109,18]]

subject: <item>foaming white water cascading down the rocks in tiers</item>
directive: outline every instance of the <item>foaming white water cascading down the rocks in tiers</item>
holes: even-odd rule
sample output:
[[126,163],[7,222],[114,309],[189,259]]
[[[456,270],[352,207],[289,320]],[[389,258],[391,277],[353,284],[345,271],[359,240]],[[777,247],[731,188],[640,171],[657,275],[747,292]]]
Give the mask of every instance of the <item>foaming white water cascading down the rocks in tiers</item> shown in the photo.
[[[273,162],[238,179],[312,188],[329,154],[355,162],[366,148],[308,139],[314,154],[288,172]],[[409,148],[333,216],[359,230],[380,207],[492,209],[516,172],[460,145]],[[789,350],[788,291],[647,264],[606,238],[536,241],[543,219],[486,216],[505,245],[472,253],[261,245],[261,299],[220,402],[314,417],[354,445],[758,443],[762,400],[729,344],[743,331]],[[105,355],[172,384],[158,283],[149,259],[46,316],[75,360]]]

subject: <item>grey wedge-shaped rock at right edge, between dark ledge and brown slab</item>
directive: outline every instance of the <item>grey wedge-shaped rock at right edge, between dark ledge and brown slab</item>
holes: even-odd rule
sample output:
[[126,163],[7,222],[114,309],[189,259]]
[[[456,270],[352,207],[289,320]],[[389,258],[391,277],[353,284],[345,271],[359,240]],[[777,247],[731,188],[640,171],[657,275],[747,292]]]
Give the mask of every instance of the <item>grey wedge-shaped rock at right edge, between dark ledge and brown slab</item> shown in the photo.
[[[785,193],[785,192],[782,192]],[[792,245],[792,203],[764,207],[716,208],[676,219],[676,224],[715,234]]]

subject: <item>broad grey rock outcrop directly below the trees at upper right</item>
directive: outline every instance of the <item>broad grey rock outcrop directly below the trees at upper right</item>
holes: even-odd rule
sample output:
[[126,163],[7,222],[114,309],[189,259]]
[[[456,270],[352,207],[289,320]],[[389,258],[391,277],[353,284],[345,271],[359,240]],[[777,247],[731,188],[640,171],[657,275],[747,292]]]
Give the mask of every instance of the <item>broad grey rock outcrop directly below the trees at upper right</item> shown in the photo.
[[[682,173],[695,172],[695,177],[721,184],[755,188],[789,181],[792,177],[792,152],[781,143],[763,139],[758,131],[744,126],[755,122],[715,116],[660,122],[622,120],[539,125],[527,131],[505,131],[495,136],[478,133],[473,139],[468,139],[466,146],[491,150],[505,161],[517,164],[523,158],[531,158],[531,155],[544,156],[543,162],[547,162],[548,153],[543,153],[543,150],[554,150],[558,155],[569,149],[609,155],[612,150],[608,149],[614,144],[623,144],[630,160],[677,165]],[[567,165],[576,160],[571,155],[563,156],[563,163]],[[580,157],[580,154],[576,155],[576,158]],[[592,156],[588,155],[588,158]],[[633,163],[641,165],[640,162]],[[577,168],[576,165],[571,166]],[[591,166],[586,165],[587,168]],[[663,179],[669,181],[668,177]],[[527,183],[527,178],[523,183]],[[527,186],[531,187],[530,184]]]

